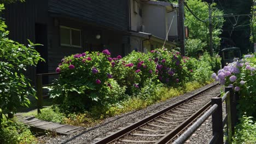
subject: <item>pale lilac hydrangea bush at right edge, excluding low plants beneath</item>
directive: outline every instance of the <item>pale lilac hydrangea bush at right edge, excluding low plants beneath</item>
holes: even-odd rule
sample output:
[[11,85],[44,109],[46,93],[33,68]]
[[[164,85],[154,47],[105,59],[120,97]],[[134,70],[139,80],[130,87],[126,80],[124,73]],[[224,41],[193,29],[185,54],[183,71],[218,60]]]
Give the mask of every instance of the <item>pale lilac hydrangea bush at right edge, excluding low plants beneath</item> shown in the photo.
[[248,116],[256,116],[256,56],[255,53],[245,55],[239,61],[232,62],[213,73],[212,78],[219,81],[221,85],[231,86],[239,97],[238,110],[242,115],[247,112]]

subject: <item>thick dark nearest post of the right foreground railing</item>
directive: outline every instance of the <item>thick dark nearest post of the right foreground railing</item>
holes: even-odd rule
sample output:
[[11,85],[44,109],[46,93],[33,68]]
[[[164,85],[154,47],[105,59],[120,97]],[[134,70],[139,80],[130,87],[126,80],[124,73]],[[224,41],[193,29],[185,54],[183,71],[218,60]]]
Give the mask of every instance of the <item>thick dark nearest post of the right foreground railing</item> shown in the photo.
[[212,98],[211,103],[218,105],[216,111],[212,113],[212,134],[219,135],[216,143],[223,144],[222,98]]

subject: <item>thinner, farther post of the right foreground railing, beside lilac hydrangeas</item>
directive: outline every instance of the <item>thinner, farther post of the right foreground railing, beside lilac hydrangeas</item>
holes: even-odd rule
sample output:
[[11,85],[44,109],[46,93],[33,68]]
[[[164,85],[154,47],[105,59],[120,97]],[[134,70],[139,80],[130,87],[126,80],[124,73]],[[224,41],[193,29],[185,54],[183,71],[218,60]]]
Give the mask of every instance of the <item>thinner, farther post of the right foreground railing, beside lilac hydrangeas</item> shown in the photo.
[[232,87],[225,87],[225,92],[229,92],[226,96],[226,112],[228,113],[228,121],[227,121],[227,126],[228,126],[228,143],[231,143],[232,140],[232,118],[231,118],[231,95],[230,91],[233,89]]

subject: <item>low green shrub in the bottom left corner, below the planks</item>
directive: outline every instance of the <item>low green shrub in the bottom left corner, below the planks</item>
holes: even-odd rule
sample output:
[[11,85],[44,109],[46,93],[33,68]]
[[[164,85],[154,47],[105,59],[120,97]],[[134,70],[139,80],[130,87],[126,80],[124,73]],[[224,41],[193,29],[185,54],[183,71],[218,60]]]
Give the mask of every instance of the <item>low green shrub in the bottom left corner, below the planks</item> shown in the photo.
[[6,144],[13,143],[37,143],[36,137],[31,134],[27,125],[14,121],[3,119],[0,125],[0,142]]

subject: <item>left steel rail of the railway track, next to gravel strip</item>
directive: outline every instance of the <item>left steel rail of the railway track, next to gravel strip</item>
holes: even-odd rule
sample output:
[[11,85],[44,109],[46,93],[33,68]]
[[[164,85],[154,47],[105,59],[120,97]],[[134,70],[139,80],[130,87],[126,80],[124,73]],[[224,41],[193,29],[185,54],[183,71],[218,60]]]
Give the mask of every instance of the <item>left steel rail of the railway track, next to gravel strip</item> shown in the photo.
[[179,101],[176,104],[173,104],[171,106],[166,107],[165,109],[162,109],[162,110],[160,110],[160,111],[158,111],[156,113],[153,113],[152,115],[147,116],[147,117],[141,119],[141,121],[138,121],[136,123],[128,125],[127,127],[123,128],[123,129],[120,129],[118,131],[115,131],[114,133],[112,133],[112,134],[110,134],[110,135],[108,135],[106,137],[103,137],[101,140],[96,141],[94,144],[106,144],[106,143],[113,142],[114,140],[117,140],[118,138],[120,138],[120,137],[124,136],[125,134],[129,133],[130,131],[137,129],[138,127],[141,127],[142,125],[152,121],[156,117],[159,117],[159,116],[163,115],[164,113],[170,111],[174,107],[177,107],[177,106],[185,103],[186,101],[197,97],[198,95],[208,91],[209,89],[211,89],[213,87],[216,87],[217,85],[219,85],[219,83],[216,83],[216,84],[214,84],[214,85],[212,85],[212,86],[210,86],[208,88],[205,88],[202,91],[197,92],[197,93],[193,94],[191,97],[189,97],[187,99],[184,99],[184,100],[181,100],[181,101]]

